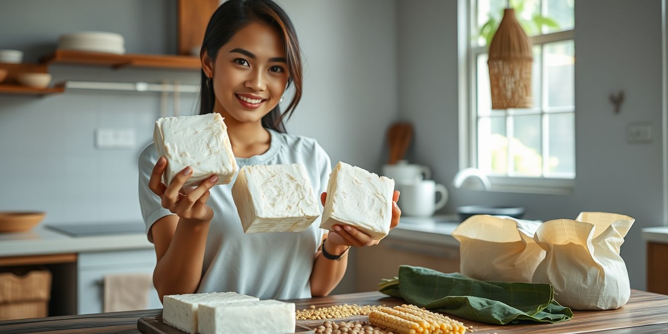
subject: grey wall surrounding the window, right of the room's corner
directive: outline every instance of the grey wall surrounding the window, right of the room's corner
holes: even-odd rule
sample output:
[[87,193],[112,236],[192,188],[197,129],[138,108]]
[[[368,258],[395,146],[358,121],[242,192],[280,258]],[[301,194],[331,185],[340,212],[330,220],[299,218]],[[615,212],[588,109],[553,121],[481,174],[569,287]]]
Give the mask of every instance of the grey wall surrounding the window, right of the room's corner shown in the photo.
[[[645,289],[641,228],[663,224],[661,174],[661,2],[576,1],[576,182],[570,195],[459,190],[444,212],[467,204],[520,205],[527,218],[580,211],[627,214],[636,222],[621,255],[631,287]],[[399,116],[415,124],[413,162],[452,184],[458,171],[456,1],[399,1]],[[422,32],[422,34],[420,34]],[[419,60],[417,60],[419,59]],[[611,92],[625,90],[621,114]],[[627,144],[626,126],[651,122],[651,144]]]

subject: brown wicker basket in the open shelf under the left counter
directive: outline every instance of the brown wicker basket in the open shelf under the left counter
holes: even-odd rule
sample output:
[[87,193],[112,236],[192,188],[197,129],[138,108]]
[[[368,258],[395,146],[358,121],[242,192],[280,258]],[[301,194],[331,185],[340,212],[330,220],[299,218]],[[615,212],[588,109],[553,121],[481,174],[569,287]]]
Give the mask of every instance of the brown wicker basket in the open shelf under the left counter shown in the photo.
[[0,320],[47,317],[50,297],[46,269],[0,273]]

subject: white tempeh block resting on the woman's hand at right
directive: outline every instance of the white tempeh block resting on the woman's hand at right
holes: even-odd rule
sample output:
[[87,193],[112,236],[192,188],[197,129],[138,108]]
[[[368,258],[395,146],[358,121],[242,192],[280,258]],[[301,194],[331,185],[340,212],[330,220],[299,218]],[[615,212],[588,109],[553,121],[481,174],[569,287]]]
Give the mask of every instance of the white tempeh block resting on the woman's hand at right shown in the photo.
[[394,180],[339,162],[329,175],[320,228],[355,226],[379,240],[389,233]]

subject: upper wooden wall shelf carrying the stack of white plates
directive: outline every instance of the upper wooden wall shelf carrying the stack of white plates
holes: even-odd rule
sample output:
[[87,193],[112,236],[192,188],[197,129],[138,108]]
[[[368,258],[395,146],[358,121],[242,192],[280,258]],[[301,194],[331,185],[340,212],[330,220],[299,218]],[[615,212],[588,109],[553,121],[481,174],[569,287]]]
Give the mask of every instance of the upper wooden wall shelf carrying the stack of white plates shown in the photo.
[[200,69],[198,57],[186,55],[140,55],[99,53],[75,50],[55,50],[40,59],[44,65],[75,64],[102,65],[114,68],[121,67],[153,67],[163,69]]

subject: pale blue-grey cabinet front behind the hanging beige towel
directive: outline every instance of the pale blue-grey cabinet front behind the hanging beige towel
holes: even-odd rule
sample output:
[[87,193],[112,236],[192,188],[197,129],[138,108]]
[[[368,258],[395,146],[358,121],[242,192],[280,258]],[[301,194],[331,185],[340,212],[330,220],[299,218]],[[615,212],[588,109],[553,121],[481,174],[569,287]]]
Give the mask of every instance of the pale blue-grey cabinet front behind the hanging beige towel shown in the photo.
[[[104,277],[115,274],[146,273],[156,266],[152,249],[81,253],[77,282],[77,313],[102,313],[104,307]],[[147,309],[161,309],[156,289],[148,291]]]

